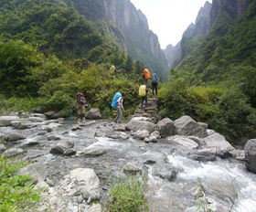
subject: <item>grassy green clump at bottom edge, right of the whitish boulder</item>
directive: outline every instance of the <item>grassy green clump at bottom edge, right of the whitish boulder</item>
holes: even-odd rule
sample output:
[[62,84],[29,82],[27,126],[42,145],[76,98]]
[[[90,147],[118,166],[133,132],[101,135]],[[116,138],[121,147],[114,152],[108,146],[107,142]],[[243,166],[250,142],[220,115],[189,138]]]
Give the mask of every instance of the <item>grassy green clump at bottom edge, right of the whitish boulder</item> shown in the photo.
[[146,212],[147,201],[144,196],[144,184],[134,178],[123,179],[110,190],[112,202],[110,212]]

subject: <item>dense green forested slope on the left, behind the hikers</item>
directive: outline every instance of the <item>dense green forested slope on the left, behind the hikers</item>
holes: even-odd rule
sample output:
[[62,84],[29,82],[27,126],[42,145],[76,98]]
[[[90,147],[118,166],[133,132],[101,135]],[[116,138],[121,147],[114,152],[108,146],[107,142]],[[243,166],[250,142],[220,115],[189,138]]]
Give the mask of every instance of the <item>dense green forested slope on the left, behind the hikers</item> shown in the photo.
[[89,22],[62,0],[2,0],[0,11],[1,114],[40,106],[71,115],[78,91],[105,116],[121,91],[124,115],[133,112],[143,66],[107,23]]

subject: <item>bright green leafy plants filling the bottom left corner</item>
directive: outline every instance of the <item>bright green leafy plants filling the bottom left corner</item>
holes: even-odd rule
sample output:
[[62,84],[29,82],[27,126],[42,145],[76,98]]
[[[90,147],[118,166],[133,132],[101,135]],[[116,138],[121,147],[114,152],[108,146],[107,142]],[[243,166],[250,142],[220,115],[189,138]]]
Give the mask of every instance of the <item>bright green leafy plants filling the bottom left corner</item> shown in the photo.
[[0,211],[18,212],[30,208],[39,200],[39,192],[33,189],[32,180],[16,171],[27,162],[15,162],[0,156]]

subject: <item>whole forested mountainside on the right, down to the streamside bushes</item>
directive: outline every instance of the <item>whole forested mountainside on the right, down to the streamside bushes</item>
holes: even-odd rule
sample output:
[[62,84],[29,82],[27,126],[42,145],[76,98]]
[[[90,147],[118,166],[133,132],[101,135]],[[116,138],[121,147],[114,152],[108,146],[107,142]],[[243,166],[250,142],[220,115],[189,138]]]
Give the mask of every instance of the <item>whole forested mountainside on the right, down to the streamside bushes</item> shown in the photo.
[[256,1],[213,0],[211,18],[162,90],[161,112],[190,114],[239,144],[256,136]]

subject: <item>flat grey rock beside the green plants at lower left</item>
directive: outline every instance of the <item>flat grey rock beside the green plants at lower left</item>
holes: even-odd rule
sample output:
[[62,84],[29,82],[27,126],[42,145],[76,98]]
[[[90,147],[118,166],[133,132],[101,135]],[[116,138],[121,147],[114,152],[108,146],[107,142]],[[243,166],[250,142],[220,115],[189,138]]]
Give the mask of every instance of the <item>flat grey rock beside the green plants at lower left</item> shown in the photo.
[[18,170],[17,175],[30,175],[37,182],[44,181],[47,178],[46,164],[28,164]]

